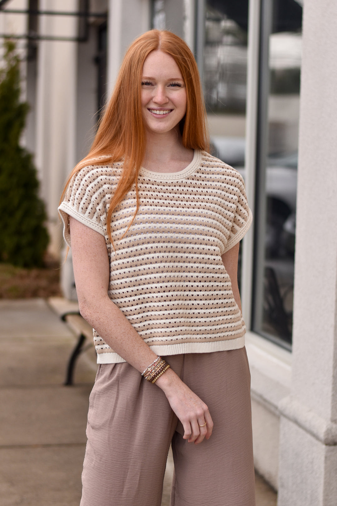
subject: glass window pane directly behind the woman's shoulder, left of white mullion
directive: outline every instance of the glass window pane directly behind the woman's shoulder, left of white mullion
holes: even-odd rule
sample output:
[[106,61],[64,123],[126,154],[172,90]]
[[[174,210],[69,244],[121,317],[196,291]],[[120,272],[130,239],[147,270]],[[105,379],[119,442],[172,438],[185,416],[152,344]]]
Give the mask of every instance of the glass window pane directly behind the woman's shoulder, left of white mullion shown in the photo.
[[[248,2],[206,2],[203,85],[211,153],[244,174]],[[240,286],[240,259],[238,284]]]

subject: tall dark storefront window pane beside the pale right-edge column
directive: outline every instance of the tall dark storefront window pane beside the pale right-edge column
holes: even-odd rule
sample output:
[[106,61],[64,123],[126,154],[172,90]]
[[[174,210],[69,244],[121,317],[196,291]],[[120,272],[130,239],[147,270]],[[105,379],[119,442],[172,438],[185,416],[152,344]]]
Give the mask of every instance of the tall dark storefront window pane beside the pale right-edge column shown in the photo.
[[[290,348],[302,7],[295,0],[262,1],[261,14],[261,40],[267,47],[262,48],[266,66],[262,66],[260,114],[263,102],[266,114],[258,126],[258,136],[264,139],[257,161],[252,321],[254,331]],[[261,89],[266,90],[265,99]]]

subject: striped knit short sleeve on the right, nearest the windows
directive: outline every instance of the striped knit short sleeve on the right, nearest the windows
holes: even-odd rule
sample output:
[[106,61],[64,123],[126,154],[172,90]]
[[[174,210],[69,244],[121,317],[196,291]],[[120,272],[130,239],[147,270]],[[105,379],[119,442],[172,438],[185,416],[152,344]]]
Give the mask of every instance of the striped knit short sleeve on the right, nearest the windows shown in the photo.
[[228,251],[244,237],[253,220],[251,209],[248,206],[245,183],[243,177],[238,172],[236,172],[232,185],[236,197],[236,208],[232,217],[230,234],[224,252]]

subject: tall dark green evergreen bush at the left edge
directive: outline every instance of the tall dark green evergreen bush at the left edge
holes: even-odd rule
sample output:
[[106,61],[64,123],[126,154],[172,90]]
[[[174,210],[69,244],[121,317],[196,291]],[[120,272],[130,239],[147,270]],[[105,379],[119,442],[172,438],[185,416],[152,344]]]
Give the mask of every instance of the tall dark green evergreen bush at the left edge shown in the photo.
[[29,106],[20,102],[20,60],[11,41],[5,42],[4,59],[0,70],[0,261],[38,267],[49,237],[32,155],[20,146]]

